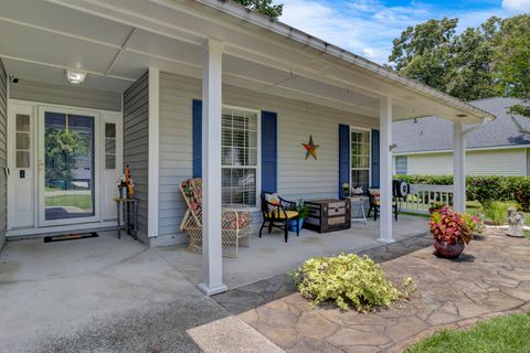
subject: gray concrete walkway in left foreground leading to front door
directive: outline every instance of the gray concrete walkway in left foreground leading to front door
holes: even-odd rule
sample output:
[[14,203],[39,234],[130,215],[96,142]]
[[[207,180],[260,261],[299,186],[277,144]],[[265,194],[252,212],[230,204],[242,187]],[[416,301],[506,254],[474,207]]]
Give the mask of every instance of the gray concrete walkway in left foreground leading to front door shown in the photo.
[[0,352],[282,350],[157,250],[107,233],[8,243],[0,255]]

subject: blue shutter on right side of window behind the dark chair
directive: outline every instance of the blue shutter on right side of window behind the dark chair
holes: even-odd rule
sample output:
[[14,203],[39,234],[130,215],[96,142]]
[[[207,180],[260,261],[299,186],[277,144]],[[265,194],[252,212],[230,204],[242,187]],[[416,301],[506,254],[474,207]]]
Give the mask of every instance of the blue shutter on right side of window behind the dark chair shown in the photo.
[[278,189],[278,116],[262,111],[262,192]]

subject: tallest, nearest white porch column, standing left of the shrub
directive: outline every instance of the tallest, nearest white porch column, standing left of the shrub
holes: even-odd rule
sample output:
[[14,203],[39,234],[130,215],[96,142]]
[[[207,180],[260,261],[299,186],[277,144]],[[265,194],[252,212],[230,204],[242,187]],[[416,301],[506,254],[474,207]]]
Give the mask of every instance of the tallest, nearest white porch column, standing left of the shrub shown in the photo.
[[204,43],[202,68],[202,257],[203,282],[212,296],[226,291],[223,285],[221,247],[221,114],[223,44]]

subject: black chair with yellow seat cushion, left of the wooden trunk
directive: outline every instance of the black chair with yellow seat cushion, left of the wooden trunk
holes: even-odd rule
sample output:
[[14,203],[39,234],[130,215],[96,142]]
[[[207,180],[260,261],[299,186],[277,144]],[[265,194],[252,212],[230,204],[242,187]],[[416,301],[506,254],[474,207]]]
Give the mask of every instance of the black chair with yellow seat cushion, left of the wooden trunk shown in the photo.
[[[259,237],[262,231],[268,227],[268,234],[273,232],[273,227],[284,231],[285,243],[289,238],[289,221],[296,220],[298,224],[298,212],[296,211],[296,202],[290,202],[278,196],[279,203],[271,203],[265,195],[272,195],[272,192],[262,193],[262,214],[263,224],[259,228]],[[296,236],[299,235],[298,226],[296,227]]]

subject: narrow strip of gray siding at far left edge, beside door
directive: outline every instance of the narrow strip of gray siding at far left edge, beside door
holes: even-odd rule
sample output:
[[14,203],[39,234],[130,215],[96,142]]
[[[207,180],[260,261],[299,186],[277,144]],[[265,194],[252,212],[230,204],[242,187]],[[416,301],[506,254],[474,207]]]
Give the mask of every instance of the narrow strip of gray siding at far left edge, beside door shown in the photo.
[[4,168],[8,167],[7,126],[8,126],[8,76],[0,60],[0,249],[6,243],[8,180]]

